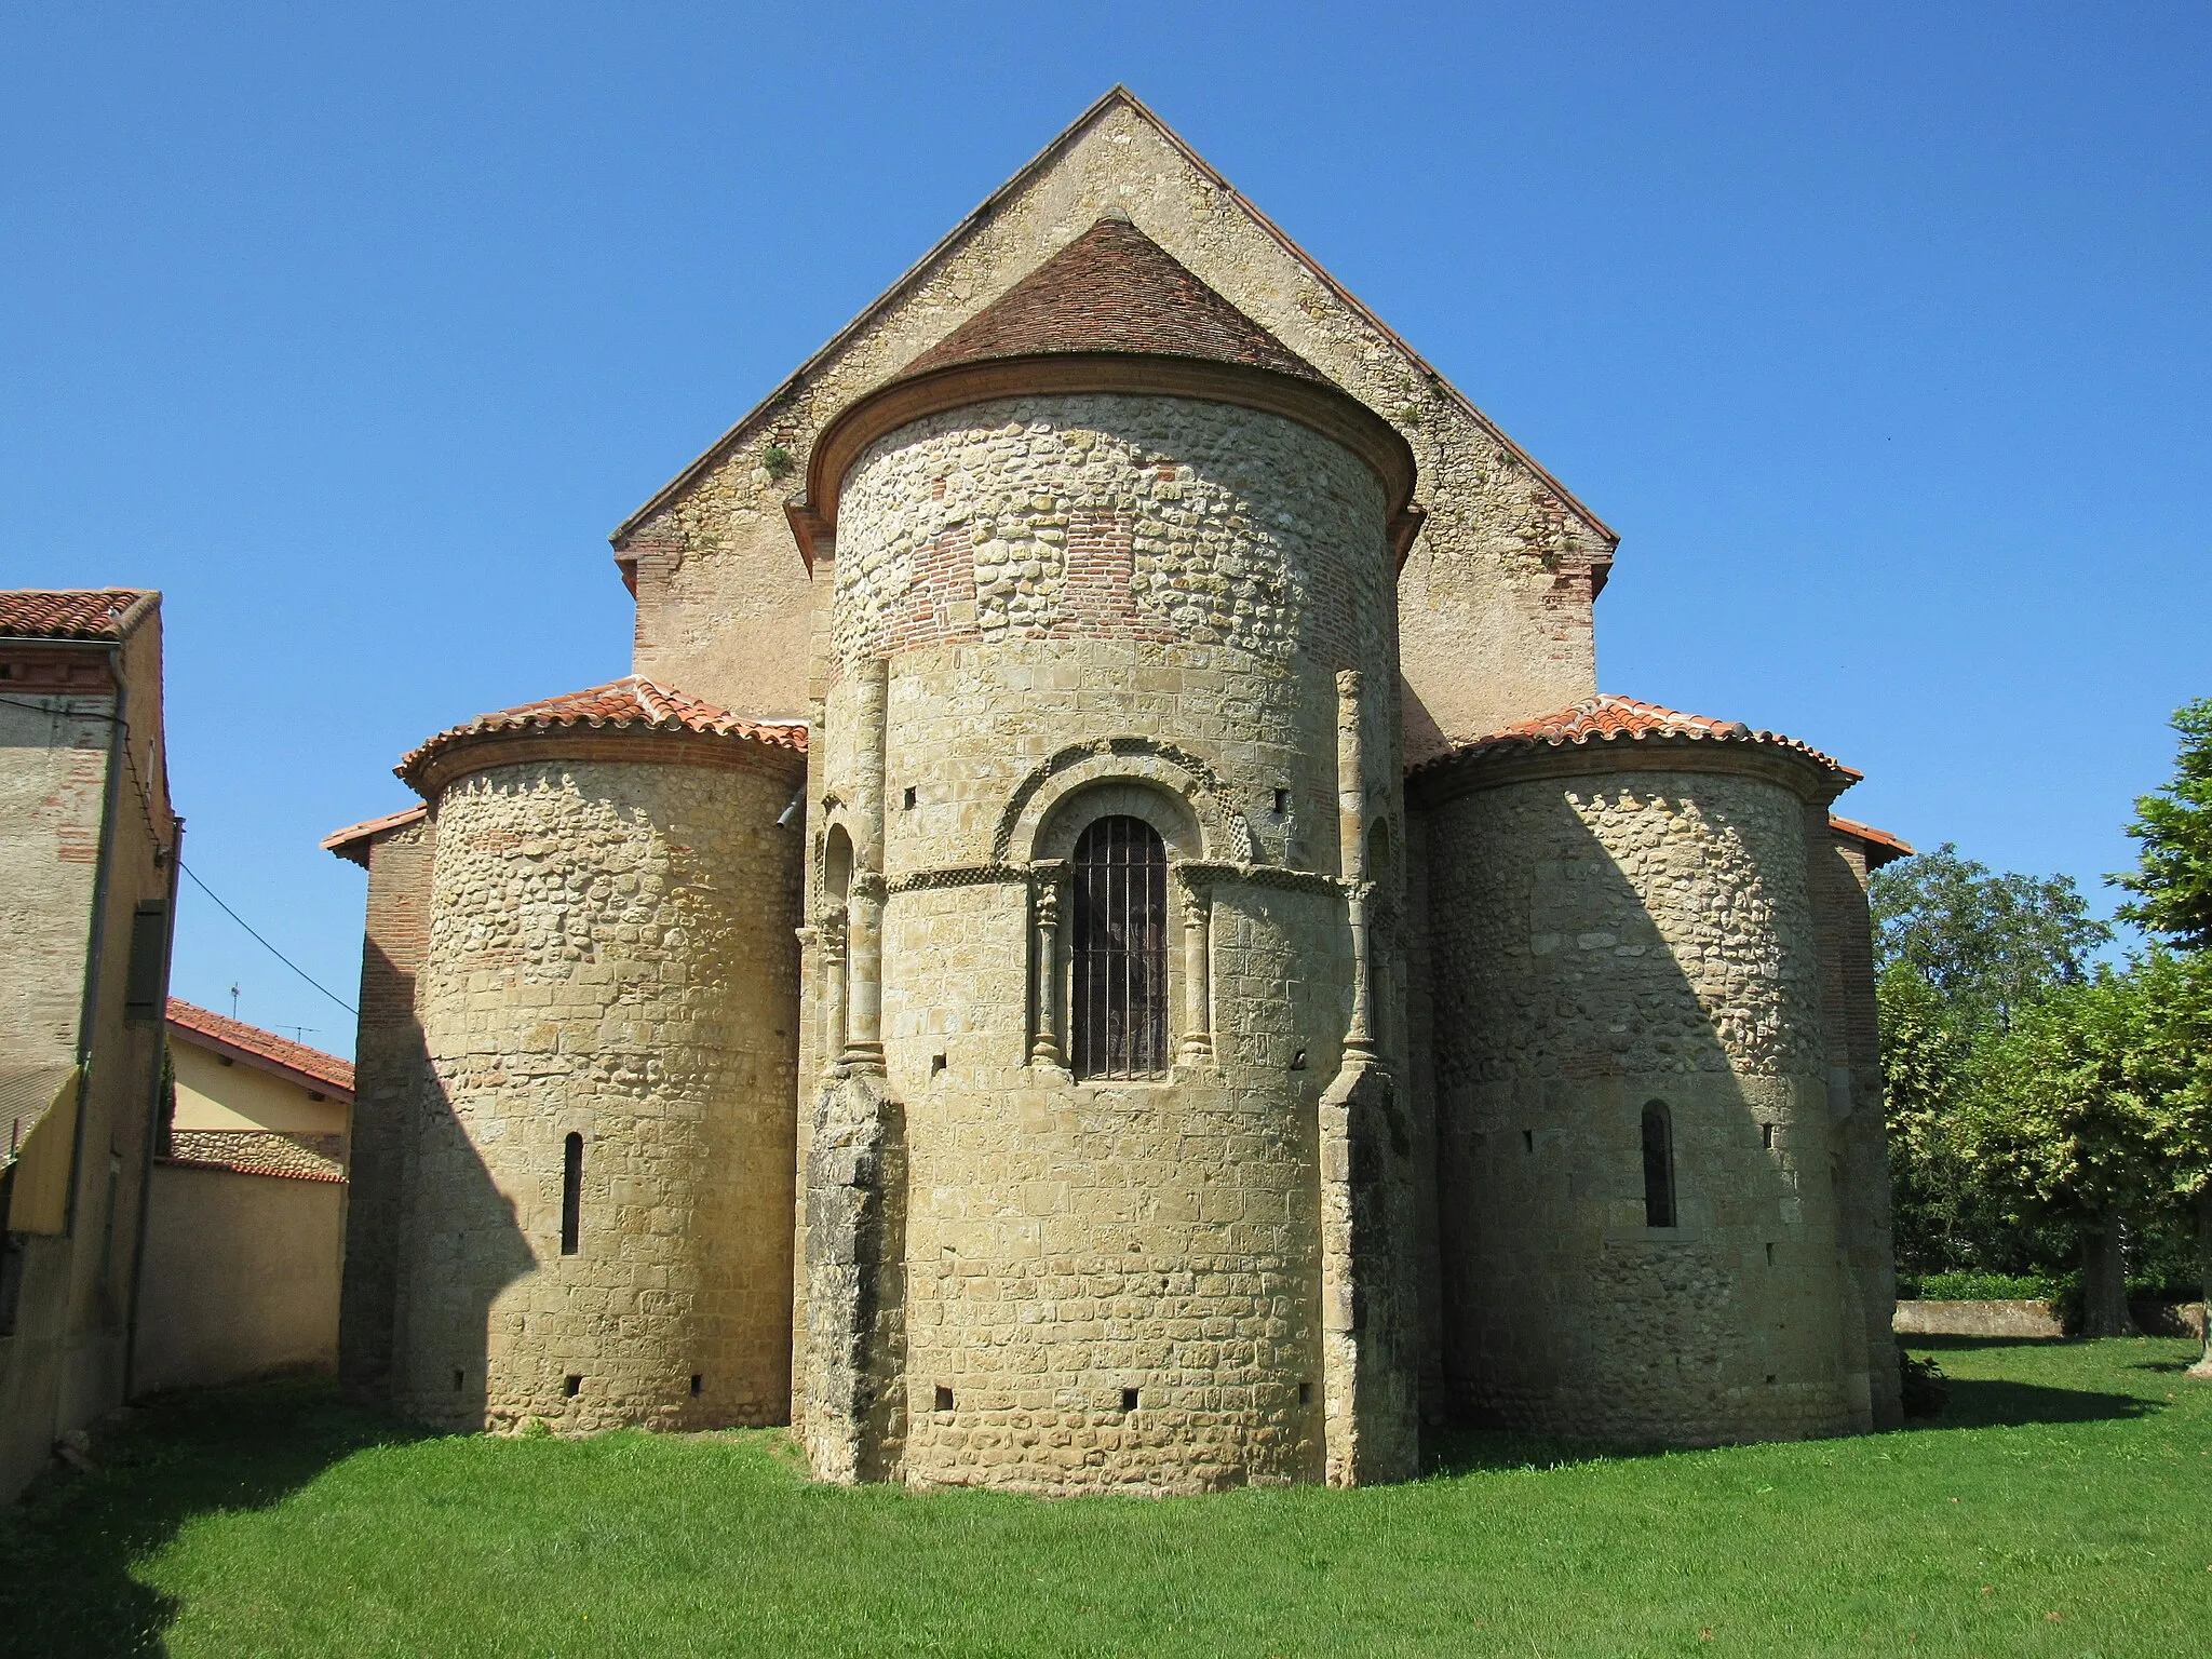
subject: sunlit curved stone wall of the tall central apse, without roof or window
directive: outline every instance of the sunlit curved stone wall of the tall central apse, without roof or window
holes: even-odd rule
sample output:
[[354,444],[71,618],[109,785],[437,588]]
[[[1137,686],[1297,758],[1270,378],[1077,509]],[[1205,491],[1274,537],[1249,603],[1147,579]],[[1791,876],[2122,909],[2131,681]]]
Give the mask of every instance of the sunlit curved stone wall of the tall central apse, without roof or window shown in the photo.
[[[1323,1475],[1316,1110],[1352,1004],[1336,670],[1394,686],[1389,571],[1374,476],[1243,409],[993,403],[854,467],[812,832],[869,794],[880,752],[907,1168],[894,1478]],[[1363,721],[1391,816],[1387,697]],[[1170,849],[1179,1064],[1157,1082],[1033,1060],[1037,894],[1108,812]],[[872,841],[854,825],[863,858]],[[1064,1000],[1064,962],[1053,978]]]

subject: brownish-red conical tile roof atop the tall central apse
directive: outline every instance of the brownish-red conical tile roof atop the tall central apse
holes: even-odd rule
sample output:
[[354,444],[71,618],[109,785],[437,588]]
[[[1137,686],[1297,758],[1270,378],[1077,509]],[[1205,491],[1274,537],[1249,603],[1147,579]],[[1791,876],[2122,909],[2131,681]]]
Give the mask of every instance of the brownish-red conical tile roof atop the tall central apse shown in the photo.
[[1141,352],[1325,376],[1128,219],[1099,219],[905,367],[1062,352]]

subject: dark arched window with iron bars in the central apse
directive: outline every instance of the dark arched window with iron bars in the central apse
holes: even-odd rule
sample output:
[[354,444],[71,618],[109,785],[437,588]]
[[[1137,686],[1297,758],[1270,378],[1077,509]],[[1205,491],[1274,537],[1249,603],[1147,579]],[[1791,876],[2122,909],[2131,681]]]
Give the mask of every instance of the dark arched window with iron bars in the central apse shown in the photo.
[[1157,1077],[1168,1068],[1168,849],[1144,818],[1097,818],[1071,874],[1075,1075]]

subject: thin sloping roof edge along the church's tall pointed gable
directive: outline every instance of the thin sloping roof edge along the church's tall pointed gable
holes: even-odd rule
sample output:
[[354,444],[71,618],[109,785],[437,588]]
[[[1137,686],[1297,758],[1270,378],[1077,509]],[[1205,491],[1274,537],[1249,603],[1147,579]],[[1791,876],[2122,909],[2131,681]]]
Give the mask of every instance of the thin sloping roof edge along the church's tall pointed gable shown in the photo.
[[1091,108],[1068,122],[1060,135],[1046,144],[1037,155],[1029,159],[1026,166],[1013,173],[998,190],[982,199],[967,219],[953,226],[938,243],[922,254],[914,265],[909,265],[898,281],[894,281],[883,294],[878,294],[858,316],[854,316],[845,327],[832,334],[821,349],[816,349],[805,363],[801,363],[781,385],[776,385],[765,398],[761,398],[752,409],[748,409],[739,420],[721,434],[706,451],[697,456],[684,471],[661,484],[635,513],[630,513],[608,540],[622,549],[628,538],[646,524],[655,513],[675,502],[697,482],[703,473],[717,467],[730,456],[732,449],[750,434],[757,422],[770,416],[779,405],[783,405],[792,394],[796,394],[814,374],[838,356],[854,338],[867,332],[880,316],[885,316],[894,305],[898,305],[907,294],[925,283],[925,279],[951,254],[962,241],[973,237],[1000,206],[1026,190],[1040,175],[1051,170],[1051,166],[1066,155],[1091,128],[1106,122],[1115,111],[1128,111],[1144,124],[1148,124],[1159,139],[1172,148],[1190,168],[1206,179],[1221,197],[1234,206],[1245,219],[1250,219],[1265,237],[1270,237],[1285,254],[1290,254],[1305,272],[1321,283],[1338,303],[1354,312],[1367,327],[1371,327],[1383,341],[1398,352],[1416,374],[1431,383],[1438,392],[1451,398],[1467,418],[1480,427],[1493,442],[1500,445],[1509,456],[1513,456],[1528,473],[1548,489],[1559,507],[1582,520],[1590,533],[1595,533],[1608,549],[1621,538],[1593,513],[1566,484],[1546,471],[1535,456],[1522,449],[1513,438],[1509,438],[1495,420],[1491,420],[1482,409],[1478,409],[1464,392],[1451,385],[1427,358],[1420,356],[1405,338],[1398,336],[1380,316],[1376,316],[1367,305],[1363,305],[1352,290],[1336,281],[1305,248],[1292,241],[1281,226],[1276,226],[1265,212],[1261,212],[1241,190],[1237,190],[1221,173],[1217,173],[1197,150],[1190,148],[1183,137],[1170,128],[1159,115],[1155,115],[1144,100],[1139,100],[1128,86],[1110,86]]

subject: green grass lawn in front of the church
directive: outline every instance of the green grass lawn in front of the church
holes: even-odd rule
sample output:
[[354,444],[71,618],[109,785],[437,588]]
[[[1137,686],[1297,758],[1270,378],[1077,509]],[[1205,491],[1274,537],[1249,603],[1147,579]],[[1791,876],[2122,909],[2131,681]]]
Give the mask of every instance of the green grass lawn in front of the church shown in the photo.
[[781,1433],[431,1440],[325,1385],[179,1396],[0,1513],[0,1650],[2205,1652],[2192,1345],[1927,1349],[1951,1405],[1902,1433],[1467,1436],[1407,1486],[1166,1502],[832,1491]]

